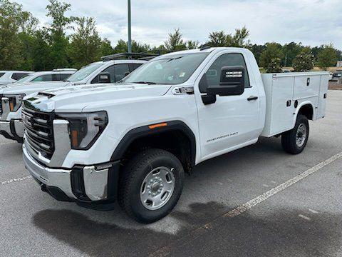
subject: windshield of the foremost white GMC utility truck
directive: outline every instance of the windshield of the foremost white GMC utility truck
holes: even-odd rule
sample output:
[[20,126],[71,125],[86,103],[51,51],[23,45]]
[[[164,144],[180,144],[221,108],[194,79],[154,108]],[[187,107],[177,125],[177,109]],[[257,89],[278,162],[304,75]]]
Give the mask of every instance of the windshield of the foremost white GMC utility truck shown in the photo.
[[124,82],[176,85],[187,81],[208,53],[173,54],[140,66]]

